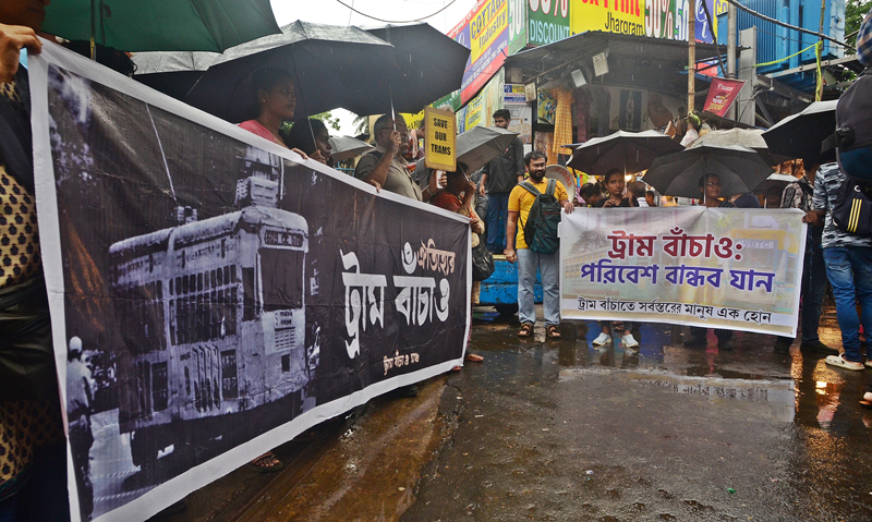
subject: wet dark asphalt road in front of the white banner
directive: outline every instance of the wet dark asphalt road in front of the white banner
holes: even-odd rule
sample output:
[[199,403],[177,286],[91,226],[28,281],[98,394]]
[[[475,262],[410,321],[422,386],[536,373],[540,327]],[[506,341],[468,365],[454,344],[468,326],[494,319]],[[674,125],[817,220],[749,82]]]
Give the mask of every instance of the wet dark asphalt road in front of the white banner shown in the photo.
[[456,429],[400,520],[872,520],[868,372],[777,355],[768,336],[686,349],[663,325],[638,353],[598,350],[590,326],[522,341],[480,315],[486,361],[448,379]]

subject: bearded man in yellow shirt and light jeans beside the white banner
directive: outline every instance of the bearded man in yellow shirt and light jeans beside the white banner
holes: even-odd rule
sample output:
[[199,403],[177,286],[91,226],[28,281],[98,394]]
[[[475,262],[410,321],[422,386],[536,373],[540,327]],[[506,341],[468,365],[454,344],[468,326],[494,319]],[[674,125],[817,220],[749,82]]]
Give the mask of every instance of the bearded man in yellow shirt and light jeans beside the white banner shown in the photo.
[[[545,193],[548,180],[545,179],[544,153],[533,150],[524,157],[524,165],[530,174],[528,180],[541,193]],[[564,211],[572,214],[574,206],[567,195],[562,183],[557,181],[554,196],[560,202]],[[509,220],[506,224],[506,260],[518,262],[518,315],[521,329],[518,337],[533,335],[536,323],[536,308],[533,301],[533,286],[536,282],[536,269],[542,274],[543,307],[545,312],[545,333],[550,339],[560,338],[560,251],[553,254],[538,254],[528,248],[523,226],[530,216],[530,208],[536,197],[523,186],[516,186],[509,194]],[[521,226],[518,227],[520,216]],[[517,250],[516,250],[517,245]]]

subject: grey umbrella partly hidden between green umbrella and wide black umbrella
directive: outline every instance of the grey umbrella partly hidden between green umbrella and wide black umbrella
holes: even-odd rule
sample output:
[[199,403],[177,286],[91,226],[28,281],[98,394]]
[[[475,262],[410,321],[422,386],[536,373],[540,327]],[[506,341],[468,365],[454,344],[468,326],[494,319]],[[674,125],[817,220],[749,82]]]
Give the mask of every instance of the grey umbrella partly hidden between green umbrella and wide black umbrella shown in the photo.
[[206,69],[221,54],[205,51],[137,52],[133,80],[175,99],[184,100]]

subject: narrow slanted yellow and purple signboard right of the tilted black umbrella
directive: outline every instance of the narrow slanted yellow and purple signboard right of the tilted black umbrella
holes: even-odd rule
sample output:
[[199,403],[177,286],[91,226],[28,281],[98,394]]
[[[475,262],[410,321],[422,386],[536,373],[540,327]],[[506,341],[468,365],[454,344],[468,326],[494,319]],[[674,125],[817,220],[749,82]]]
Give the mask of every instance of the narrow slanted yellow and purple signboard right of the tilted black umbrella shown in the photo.
[[471,50],[461,83],[461,101],[465,104],[506,61],[509,1],[479,0],[470,14],[448,36]]

